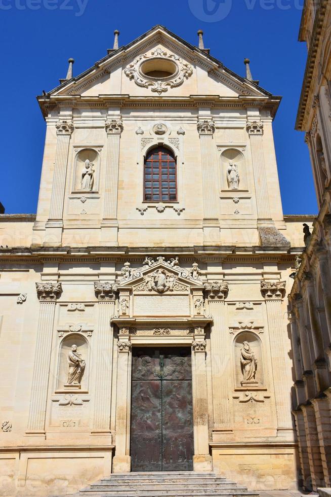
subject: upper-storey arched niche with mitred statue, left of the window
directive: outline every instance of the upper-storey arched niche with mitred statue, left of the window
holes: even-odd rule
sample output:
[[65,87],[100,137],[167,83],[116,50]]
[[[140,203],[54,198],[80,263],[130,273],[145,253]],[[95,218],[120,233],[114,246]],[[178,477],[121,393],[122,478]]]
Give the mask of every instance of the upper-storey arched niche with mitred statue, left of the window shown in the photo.
[[[89,167],[87,167],[87,161],[89,161]],[[86,193],[97,192],[99,189],[99,171],[100,156],[98,152],[88,148],[79,150],[75,157],[73,190]]]

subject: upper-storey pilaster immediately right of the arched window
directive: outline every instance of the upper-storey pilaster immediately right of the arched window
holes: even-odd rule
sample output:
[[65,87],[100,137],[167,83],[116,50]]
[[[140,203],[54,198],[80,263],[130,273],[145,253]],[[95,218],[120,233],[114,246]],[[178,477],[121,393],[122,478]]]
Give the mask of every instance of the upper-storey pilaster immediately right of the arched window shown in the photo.
[[220,236],[219,198],[215,184],[218,178],[213,135],[215,123],[204,119],[197,123],[200,136],[201,167],[202,167],[202,196],[203,196],[203,239],[216,241]]

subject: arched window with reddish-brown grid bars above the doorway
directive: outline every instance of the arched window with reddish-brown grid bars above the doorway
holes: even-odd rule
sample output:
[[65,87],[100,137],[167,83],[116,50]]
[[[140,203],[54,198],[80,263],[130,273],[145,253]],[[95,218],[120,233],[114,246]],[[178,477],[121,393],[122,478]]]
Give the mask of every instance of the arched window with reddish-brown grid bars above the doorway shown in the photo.
[[164,147],[150,150],[144,164],[144,200],[177,200],[177,165],[172,152]]

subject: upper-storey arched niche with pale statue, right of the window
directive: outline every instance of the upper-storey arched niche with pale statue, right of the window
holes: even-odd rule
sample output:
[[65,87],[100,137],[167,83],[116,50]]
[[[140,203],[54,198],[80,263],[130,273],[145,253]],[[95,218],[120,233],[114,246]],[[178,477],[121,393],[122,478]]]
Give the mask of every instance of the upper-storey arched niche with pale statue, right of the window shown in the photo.
[[[229,171],[232,164],[232,172]],[[237,181],[235,180],[235,171]],[[228,173],[229,171],[229,173]],[[232,181],[231,181],[232,179]],[[247,177],[244,155],[237,149],[226,149],[221,154],[221,180],[222,190],[242,191],[247,190]]]

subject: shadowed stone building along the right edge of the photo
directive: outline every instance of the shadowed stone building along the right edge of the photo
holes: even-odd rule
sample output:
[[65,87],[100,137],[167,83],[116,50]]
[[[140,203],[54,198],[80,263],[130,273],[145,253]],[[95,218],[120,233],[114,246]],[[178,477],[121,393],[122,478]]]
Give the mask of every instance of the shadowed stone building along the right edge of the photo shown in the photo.
[[300,41],[308,59],[296,128],[306,131],[319,213],[297,259],[291,291],[293,414],[301,482],[331,486],[331,4],[307,0]]

